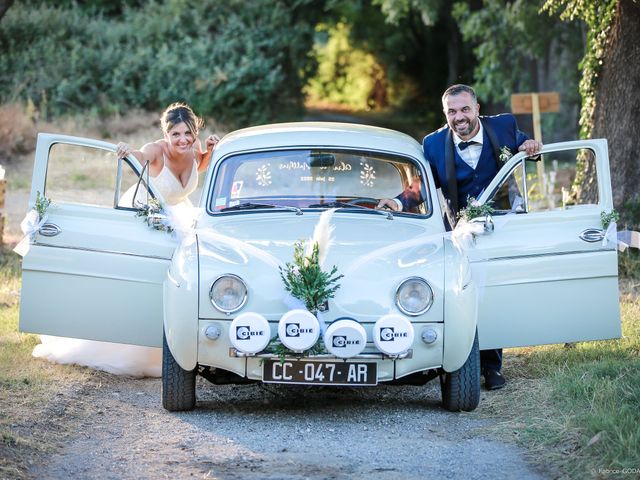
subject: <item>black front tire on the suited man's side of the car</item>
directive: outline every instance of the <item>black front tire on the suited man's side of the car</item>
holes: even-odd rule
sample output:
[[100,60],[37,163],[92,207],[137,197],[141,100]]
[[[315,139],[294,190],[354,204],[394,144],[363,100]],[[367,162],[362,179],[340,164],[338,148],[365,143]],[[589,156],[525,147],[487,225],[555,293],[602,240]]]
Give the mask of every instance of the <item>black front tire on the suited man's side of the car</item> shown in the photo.
[[471,412],[480,403],[480,348],[478,331],[467,361],[455,372],[440,374],[442,406],[451,412]]

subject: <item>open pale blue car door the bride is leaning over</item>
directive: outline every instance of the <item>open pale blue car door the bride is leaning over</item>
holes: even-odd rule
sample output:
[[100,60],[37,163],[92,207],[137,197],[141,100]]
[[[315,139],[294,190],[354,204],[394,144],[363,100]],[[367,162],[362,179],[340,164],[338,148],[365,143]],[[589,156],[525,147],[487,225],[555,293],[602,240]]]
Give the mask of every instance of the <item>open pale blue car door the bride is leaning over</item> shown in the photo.
[[136,216],[132,191],[157,195],[137,160],[114,152],[38,135],[29,204],[38,194],[52,204],[23,258],[20,330],[161,346],[162,282],[176,242]]

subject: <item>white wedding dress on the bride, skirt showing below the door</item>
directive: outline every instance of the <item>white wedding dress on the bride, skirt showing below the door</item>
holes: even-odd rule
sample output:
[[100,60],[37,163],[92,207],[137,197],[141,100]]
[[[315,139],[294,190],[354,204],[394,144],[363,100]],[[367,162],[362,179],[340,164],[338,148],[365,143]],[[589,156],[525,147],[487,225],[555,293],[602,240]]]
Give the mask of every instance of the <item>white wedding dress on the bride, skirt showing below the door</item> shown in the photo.
[[[188,196],[198,186],[198,169],[195,161],[186,185],[182,185],[180,179],[169,170],[166,158],[162,170],[157,177],[151,177],[151,182],[165,199],[170,217],[180,219],[191,216],[188,210],[193,207]],[[61,364],[84,365],[116,375],[132,377],[162,375],[161,348],[48,335],[41,335],[40,341],[42,343],[36,345],[32,353],[36,358]]]

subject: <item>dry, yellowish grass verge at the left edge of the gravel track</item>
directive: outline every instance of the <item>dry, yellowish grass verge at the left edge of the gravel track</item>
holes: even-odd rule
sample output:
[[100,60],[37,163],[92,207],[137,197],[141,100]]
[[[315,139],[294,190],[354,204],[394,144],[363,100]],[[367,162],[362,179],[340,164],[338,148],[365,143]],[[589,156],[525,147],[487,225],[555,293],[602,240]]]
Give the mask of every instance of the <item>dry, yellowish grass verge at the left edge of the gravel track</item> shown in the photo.
[[71,425],[51,415],[57,395],[81,384],[84,369],[31,357],[36,335],[18,332],[20,257],[0,246],[0,478],[29,478]]

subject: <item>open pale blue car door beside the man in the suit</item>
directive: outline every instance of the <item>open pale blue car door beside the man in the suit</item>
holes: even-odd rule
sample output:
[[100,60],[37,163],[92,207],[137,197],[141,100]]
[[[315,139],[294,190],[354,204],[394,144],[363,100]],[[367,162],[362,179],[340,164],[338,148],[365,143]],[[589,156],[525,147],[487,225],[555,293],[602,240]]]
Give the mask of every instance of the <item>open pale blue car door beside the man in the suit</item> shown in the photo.
[[[542,152],[544,168],[519,153],[478,199],[495,209],[494,231],[468,251],[481,349],[620,336],[617,249],[603,245],[601,220],[613,209],[607,142]],[[576,196],[581,166],[597,183]]]

